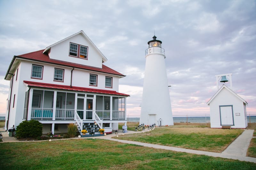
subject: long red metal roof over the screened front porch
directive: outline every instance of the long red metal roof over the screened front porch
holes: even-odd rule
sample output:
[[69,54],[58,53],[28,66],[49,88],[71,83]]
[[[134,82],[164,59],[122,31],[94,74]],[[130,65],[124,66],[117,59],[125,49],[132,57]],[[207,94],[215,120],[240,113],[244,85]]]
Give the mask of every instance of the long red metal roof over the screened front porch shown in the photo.
[[112,90],[101,90],[101,89],[92,89],[92,88],[84,88],[84,87],[75,87],[68,85],[55,85],[48,83],[38,83],[32,81],[23,81],[25,85],[28,87],[41,87],[48,89],[60,89],[60,90],[69,90],[69,91],[77,91],[77,92],[92,92],[92,93],[101,93],[101,94],[112,94],[112,95],[120,95],[120,96],[130,96],[129,94],[119,93]]

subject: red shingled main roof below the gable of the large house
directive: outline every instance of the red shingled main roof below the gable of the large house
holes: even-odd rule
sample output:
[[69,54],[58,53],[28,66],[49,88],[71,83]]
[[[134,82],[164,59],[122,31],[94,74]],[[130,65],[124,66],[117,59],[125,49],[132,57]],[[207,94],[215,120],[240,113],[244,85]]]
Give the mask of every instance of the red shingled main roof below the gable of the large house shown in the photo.
[[31,60],[36,60],[36,61],[41,61],[41,62],[46,62],[46,63],[54,63],[54,64],[60,64],[68,67],[75,67],[79,69],[85,69],[85,70],[92,70],[92,71],[99,71],[103,73],[109,73],[109,74],[114,74],[118,76],[124,76],[123,74],[110,69],[109,67],[105,66],[102,64],[102,69],[98,67],[91,67],[87,65],[82,65],[82,64],[76,64],[76,63],[70,63],[70,62],[65,62],[65,61],[60,61],[60,60],[55,60],[55,59],[50,59],[48,54],[43,54],[44,49],[27,53],[27,54],[22,54],[14,57],[22,57],[26,59],[31,59]]

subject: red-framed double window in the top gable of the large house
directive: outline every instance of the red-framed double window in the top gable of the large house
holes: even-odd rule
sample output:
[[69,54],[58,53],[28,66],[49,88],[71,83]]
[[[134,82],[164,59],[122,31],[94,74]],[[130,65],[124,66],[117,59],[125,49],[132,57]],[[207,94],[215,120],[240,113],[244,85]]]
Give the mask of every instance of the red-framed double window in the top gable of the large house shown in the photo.
[[69,55],[87,59],[88,47],[70,42]]

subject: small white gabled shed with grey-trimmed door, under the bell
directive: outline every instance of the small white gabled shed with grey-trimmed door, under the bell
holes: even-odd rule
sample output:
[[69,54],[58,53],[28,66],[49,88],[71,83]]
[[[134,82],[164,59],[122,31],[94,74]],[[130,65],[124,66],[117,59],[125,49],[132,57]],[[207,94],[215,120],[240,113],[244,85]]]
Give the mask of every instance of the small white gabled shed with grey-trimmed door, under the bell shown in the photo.
[[246,128],[248,103],[226,85],[207,102],[210,106],[211,128]]

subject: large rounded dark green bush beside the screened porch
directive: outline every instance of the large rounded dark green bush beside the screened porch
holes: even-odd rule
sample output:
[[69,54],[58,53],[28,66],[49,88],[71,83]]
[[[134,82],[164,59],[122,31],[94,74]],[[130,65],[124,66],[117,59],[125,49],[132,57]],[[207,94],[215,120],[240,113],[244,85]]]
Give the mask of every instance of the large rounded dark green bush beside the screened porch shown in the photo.
[[37,120],[23,121],[16,128],[17,138],[40,137],[43,134],[43,125]]

